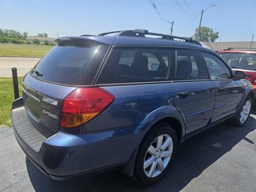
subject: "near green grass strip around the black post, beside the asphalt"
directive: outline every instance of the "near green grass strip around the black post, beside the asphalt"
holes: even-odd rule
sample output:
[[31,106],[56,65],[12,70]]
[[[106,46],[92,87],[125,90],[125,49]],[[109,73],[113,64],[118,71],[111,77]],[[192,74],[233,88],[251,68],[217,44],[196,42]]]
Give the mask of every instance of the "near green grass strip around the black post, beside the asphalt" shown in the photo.
[[[21,97],[22,77],[19,77],[19,91]],[[0,125],[12,126],[11,109],[14,100],[12,77],[0,77]]]

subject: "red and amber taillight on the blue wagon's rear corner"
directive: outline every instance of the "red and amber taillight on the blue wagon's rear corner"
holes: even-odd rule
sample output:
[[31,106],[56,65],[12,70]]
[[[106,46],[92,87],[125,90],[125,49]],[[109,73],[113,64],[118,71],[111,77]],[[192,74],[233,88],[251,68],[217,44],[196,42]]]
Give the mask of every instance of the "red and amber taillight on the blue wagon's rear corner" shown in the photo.
[[62,127],[77,127],[84,124],[113,102],[115,97],[102,88],[77,88],[63,100]]

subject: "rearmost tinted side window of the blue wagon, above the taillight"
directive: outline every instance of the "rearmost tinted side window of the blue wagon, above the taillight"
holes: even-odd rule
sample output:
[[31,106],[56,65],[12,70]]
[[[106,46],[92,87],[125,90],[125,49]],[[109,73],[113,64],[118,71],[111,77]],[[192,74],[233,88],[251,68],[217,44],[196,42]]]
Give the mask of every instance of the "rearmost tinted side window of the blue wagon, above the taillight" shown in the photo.
[[168,81],[172,63],[170,52],[167,49],[115,48],[99,84]]

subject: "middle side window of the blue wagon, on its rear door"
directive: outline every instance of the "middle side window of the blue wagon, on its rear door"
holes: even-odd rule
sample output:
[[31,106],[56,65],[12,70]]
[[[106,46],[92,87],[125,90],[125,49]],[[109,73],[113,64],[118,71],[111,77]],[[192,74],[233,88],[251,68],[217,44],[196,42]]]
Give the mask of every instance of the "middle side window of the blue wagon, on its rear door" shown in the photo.
[[177,49],[175,80],[209,79],[207,68],[200,52],[189,49]]

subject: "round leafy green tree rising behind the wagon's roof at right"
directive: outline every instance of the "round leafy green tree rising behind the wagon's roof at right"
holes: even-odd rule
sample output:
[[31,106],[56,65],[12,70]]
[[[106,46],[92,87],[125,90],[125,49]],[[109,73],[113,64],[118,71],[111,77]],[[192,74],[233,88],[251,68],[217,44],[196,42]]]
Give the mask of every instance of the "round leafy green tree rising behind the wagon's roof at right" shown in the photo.
[[[198,33],[198,28],[195,29],[195,34],[193,35],[193,38],[196,38],[196,35]],[[213,31],[211,28],[208,28],[206,26],[201,26],[200,32],[198,34],[198,40],[200,42],[215,42],[219,38],[219,32]]]

